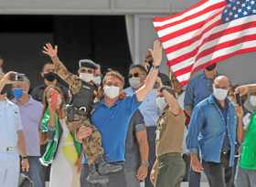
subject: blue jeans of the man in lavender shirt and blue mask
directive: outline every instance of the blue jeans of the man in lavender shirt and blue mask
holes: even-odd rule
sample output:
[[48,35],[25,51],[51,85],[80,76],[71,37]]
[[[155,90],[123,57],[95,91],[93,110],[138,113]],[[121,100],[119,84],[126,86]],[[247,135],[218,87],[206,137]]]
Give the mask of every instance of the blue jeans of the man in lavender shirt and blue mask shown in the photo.
[[35,187],[45,187],[42,174],[42,165],[38,160],[39,157],[29,157],[29,171],[27,173],[30,180],[34,183]]

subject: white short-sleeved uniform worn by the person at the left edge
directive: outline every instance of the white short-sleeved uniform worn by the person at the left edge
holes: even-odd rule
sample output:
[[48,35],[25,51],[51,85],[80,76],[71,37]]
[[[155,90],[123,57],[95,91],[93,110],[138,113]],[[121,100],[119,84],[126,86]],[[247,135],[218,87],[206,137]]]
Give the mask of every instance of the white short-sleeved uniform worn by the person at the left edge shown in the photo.
[[0,101],[0,186],[17,186],[19,154],[17,131],[22,130],[18,107],[8,99]]

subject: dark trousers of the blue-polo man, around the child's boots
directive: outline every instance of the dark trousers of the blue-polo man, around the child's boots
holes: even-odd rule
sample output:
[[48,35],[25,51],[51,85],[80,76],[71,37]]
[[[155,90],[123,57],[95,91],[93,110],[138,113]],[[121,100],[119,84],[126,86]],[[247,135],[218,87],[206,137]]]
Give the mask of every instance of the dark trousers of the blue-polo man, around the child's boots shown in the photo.
[[110,182],[107,184],[92,184],[87,182],[86,178],[89,173],[88,164],[83,164],[80,174],[80,187],[126,187],[124,171],[118,171],[109,175]]

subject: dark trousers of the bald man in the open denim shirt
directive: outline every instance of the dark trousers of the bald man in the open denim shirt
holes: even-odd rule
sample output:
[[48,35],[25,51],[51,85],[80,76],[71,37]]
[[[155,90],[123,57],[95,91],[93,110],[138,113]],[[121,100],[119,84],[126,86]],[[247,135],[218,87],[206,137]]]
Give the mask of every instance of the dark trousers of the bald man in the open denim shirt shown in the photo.
[[203,161],[203,167],[210,187],[234,186],[234,170],[229,167],[229,154],[221,154],[220,163]]

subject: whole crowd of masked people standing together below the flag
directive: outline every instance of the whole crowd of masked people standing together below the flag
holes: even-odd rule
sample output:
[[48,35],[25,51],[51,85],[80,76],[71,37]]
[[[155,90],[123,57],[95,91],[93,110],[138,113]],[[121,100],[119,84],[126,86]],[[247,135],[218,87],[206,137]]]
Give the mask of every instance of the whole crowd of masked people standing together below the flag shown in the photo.
[[[256,85],[232,86],[212,64],[182,87],[159,72],[155,41],[144,63],[124,77],[102,76],[90,59],[74,75],[51,62],[30,88],[23,72],[4,72],[0,57],[0,186],[256,186]],[[65,84],[63,84],[65,83]]]

